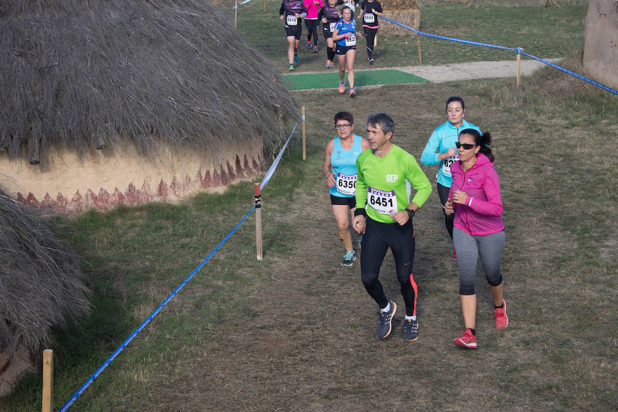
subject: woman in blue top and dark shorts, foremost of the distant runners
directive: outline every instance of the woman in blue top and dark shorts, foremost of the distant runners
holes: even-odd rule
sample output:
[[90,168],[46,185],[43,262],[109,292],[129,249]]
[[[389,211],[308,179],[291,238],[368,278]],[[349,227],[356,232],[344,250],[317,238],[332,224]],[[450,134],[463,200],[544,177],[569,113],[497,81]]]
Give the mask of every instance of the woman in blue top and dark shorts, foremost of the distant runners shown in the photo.
[[339,59],[339,93],[345,93],[345,70],[347,83],[350,84],[350,97],[356,97],[354,90],[354,57],[356,56],[356,21],[352,19],[352,10],[343,6],[343,18],[335,25],[332,40],[335,40],[336,55]]

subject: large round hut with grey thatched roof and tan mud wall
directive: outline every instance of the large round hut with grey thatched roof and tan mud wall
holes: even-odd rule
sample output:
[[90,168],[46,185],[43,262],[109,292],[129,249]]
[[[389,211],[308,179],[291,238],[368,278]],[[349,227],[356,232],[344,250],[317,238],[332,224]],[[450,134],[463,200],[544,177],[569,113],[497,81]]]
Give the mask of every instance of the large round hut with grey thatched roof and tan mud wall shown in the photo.
[[79,211],[227,184],[298,112],[209,1],[0,3],[0,182],[22,202]]

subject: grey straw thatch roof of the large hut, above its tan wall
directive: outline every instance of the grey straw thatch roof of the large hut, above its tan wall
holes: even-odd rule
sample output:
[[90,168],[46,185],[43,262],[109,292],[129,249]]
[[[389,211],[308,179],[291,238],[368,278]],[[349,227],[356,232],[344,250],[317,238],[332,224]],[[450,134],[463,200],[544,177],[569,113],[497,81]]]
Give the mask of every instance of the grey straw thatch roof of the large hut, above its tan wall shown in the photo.
[[0,2],[0,150],[45,161],[157,141],[204,147],[279,136],[297,101],[225,14],[201,0]]

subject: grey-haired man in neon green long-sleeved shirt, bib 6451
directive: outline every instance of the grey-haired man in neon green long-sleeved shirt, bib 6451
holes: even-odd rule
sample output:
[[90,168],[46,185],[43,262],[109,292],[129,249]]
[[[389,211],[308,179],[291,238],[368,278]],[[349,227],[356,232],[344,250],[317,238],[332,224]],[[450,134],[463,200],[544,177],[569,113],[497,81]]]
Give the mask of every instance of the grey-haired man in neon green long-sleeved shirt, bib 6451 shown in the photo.
[[[418,339],[416,319],[417,287],[412,274],[415,239],[412,217],[431,194],[431,183],[415,158],[393,145],[395,122],[386,113],[370,114],[367,119],[365,150],[356,159],[356,211],[353,227],[363,234],[361,279],[367,293],[380,306],[376,335],[386,339],[397,305],[389,300],[378,280],[380,266],[391,248],[397,278],[406,306],[402,327],[404,341]],[[409,200],[407,182],[416,193]]]

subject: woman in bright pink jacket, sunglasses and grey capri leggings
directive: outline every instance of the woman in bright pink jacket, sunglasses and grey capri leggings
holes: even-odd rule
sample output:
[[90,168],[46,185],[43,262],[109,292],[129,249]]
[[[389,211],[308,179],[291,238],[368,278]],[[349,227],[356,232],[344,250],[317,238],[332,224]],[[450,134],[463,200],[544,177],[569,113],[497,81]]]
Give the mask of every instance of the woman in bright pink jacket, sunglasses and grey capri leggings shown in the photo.
[[490,143],[489,133],[481,134],[474,129],[459,133],[459,141],[455,143],[459,160],[450,167],[453,185],[445,205],[447,215],[455,213],[453,244],[459,267],[461,313],[466,327],[464,335],[455,339],[455,345],[472,349],[477,348],[474,280],[479,255],[494,300],[496,329],[509,324],[500,273],[505,241],[502,199]]

